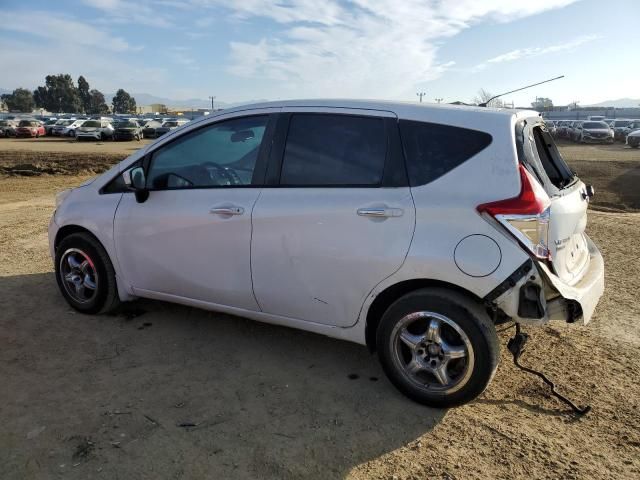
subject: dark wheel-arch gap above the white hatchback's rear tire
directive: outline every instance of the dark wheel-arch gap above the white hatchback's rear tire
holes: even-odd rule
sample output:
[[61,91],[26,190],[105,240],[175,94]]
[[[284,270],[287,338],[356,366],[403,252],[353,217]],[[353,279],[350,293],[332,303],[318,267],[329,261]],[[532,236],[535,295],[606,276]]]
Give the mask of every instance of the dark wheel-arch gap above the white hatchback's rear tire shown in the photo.
[[365,340],[370,352],[373,353],[376,351],[376,332],[378,330],[378,325],[380,324],[380,320],[382,319],[384,312],[387,311],[391,304],[407,293],[419,290],[421,288],[433,287],[446,288],[448,290],[461,293],[464,296],[477,302],[478,304],[483,304],[482,299],[477,295],[474,295],[470,291],[465,290],[464,288],[452,283],[443,282],[440,280],[422,278],[405,280],[403,282],[391,285],[376,296],[375,300],[371,303],[371,305],[369,306],[369,310],[367,311]]

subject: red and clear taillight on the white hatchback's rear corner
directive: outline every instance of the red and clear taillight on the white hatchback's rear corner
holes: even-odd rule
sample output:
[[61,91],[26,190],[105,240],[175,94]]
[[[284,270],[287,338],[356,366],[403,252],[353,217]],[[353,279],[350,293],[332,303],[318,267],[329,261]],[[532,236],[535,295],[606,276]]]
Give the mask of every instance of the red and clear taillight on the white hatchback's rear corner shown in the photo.
[[517,197],[478,205],[480,213],[495,218],[531,253],[550,259],[549,218],[551,201],[542,186],[520,165],[520,194]]

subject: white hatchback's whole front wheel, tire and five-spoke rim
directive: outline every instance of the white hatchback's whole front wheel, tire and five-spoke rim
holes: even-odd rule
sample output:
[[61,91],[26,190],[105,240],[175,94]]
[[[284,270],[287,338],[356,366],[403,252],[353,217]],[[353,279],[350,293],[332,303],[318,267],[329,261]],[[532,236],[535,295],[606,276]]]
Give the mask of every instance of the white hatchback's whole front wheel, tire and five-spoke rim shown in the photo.
[[107,313],[120,303],[109,255],[88,233],[65,237],[56,249],[56,281],[67,303],[82,313]]

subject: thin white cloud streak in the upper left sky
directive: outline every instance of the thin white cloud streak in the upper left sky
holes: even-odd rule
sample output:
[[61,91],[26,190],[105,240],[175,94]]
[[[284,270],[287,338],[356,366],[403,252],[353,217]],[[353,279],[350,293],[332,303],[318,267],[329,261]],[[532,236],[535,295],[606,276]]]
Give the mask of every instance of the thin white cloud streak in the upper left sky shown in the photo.
[[[101,51],[124,52],[141,48],[92,25],[50,12],[0,12],[0,25],[3,30],[26,33],[61,44],[83,45]],[[3,47],[6,48],[6,45]]]

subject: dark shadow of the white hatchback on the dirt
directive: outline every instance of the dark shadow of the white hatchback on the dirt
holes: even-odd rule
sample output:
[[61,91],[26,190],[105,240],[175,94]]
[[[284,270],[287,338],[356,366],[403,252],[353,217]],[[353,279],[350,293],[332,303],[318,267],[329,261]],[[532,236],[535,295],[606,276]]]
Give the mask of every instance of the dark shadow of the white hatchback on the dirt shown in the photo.
[[5,478],[335,478],[429,432],[366,348],[181,306],[115,316],[0,278]]

